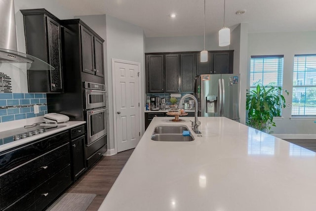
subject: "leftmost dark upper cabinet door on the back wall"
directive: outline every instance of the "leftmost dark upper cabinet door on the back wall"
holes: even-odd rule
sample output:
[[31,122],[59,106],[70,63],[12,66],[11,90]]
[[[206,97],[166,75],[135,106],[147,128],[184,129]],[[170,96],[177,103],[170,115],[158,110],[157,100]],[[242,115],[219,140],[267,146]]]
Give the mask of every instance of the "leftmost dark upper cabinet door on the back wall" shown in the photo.
[[164,92],[163,55],[147,55],[148,92]]

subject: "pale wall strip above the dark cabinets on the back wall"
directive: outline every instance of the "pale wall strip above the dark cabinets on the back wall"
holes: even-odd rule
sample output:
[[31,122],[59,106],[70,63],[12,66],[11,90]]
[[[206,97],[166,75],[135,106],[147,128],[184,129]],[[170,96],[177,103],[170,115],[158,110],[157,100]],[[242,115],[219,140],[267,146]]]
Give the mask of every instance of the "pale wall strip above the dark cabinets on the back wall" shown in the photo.
[[[203,50],[203,36],[146,38],[146,53]],[[218,33],[205,36],[206,50],[227,50],[218,46]]]

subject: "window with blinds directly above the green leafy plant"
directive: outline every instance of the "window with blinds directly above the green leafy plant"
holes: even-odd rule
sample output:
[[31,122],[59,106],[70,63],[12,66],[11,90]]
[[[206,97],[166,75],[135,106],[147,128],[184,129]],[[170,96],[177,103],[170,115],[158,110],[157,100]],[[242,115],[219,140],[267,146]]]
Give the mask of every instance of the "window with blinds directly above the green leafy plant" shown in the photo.
[[251,56],[250,89],[260,85],[282,86],[283,55]]

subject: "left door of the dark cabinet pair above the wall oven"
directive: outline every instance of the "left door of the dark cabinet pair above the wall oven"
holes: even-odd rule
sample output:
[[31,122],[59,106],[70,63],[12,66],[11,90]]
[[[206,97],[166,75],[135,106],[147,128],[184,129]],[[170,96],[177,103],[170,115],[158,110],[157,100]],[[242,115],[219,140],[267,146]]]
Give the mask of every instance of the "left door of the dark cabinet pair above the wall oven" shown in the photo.
[[93,35],[81,26],[82,71],[94,75]]

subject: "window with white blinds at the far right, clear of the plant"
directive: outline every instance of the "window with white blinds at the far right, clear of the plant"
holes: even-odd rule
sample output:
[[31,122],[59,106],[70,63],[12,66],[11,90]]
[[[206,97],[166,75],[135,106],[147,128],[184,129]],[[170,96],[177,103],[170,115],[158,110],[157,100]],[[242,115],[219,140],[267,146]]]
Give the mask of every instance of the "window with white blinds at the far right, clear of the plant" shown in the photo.
[[295,55],[292,116],[316,115],[316,54]]

